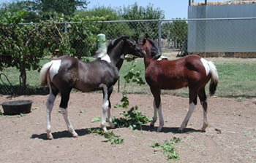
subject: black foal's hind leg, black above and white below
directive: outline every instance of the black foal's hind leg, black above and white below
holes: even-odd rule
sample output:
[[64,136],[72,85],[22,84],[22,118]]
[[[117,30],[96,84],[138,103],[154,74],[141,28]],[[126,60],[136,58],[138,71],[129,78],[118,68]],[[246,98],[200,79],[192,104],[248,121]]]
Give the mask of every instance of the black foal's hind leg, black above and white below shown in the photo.
[[69,89],[66,92],[61,92],[61,104],[59,108],[61,109],[61,114],[64,117],[64,121],[67,124],[67,130],[72,134],[74,138],[78,137],[77,132],[75,132],[74,128],[72,127],[72,124],[69,120],[69,115],[67,111],[67,103],[69,102],[69,95],[70,95],[71,89]]

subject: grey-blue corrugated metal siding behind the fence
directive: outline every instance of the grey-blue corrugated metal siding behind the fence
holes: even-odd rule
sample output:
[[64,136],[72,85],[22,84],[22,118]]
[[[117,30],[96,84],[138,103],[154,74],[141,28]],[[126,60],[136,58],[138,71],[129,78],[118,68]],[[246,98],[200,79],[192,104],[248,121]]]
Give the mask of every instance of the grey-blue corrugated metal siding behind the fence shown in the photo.
[[[189,6],[189,19],[256,17],[256,4]],[[189,20],[189,52],[256,52],[256,20]]]

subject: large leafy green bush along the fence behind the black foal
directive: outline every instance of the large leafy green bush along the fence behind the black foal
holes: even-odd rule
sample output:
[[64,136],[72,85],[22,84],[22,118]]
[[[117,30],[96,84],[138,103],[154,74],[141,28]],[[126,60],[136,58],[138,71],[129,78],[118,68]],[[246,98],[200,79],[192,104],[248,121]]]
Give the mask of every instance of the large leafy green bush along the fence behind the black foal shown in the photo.
[[[20,86],[26,87],[26,70],[38,70],[39,60],[45,55],[69,55],[81,59],[91,56],[96,51],[98,28],[94,17],[67,17],[55,15],[48,21],[38,24],[20,25],[23,23],[25,10],[15,13],[7,12],[0,18],[0,70],[16,67],[20,71]],[[64,25],[55,22],[87,22]],[[48,23],[47,25],[45,23]]]

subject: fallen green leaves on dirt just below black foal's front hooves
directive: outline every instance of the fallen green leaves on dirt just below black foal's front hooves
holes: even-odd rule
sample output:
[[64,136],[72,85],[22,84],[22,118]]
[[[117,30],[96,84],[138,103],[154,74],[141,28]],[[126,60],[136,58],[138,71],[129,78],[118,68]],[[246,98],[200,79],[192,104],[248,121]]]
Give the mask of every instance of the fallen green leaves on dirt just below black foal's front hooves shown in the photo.
[[102,142],[110,141],[111,144],[121,144],[124,142],[124,139],[120,138],[120,136],[116,135],[114,132],[104,132],[102,129],[89,129],[89,133],[95,133],[104,137]]

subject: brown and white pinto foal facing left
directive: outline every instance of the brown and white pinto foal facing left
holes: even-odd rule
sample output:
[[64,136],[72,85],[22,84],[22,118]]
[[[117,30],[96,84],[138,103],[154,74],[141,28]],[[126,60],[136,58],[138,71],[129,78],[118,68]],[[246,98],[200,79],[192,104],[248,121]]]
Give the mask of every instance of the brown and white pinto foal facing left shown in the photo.
[[151,126],[157,121],[159,114],[159,128],[162,130],[164,120],[162,117],[161,90],[176,90],[189,87],[189,111],[178,129],[182,132],[189,121],[192,112],[197,105],[197,95],[203,106],[203,127],[205,132],[208,126],[207,121],[207,97],[205,86],[211,79],[210,95],[214,95],[218,83],[218,73],[215,65],[197,55],[188,55],[178,60],[159,60],[159,50],[157,44],[147,36],[139,43],[140,47],[146,51],[144,57],[145,79],[154,96],[154,118]]

